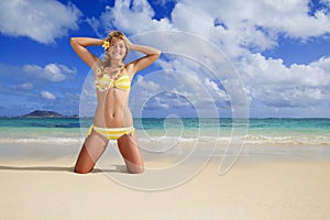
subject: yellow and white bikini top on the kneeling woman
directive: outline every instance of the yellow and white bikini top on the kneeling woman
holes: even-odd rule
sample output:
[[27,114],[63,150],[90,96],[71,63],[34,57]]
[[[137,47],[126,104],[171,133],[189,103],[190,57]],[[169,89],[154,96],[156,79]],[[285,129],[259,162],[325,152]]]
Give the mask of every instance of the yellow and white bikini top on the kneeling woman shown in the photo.
[[131,80],[127,74],[122,75],[117,80],[111,79],[110,76],[105,74],[101,78],[96,80],[96,86],[99,91],[105,91],[110,88],[128,91],[131,88]]

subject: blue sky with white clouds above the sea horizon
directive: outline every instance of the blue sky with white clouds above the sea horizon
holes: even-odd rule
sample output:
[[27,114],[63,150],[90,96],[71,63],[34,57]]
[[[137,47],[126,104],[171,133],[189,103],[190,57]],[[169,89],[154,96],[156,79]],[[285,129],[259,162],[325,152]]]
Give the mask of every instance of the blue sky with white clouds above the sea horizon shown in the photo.
[[111,30],[164,52],[133,79],[134,117],[242,107],[251,118],[330,118],[330,0],[0,1],[0,117],[92,114],[92,73],[69,40]]

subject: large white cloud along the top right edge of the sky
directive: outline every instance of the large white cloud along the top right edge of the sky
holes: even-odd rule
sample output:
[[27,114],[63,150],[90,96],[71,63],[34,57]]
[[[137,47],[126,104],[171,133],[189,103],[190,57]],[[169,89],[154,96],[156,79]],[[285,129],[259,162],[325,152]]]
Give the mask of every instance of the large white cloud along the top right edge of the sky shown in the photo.
[[322,10],[308,14],[308,2],[182,0],[173,11],[173,26],[209,38],[231,57],[240,56],[245,48],[273,48],[279,35],[307,40],[329,33],[330,15]]

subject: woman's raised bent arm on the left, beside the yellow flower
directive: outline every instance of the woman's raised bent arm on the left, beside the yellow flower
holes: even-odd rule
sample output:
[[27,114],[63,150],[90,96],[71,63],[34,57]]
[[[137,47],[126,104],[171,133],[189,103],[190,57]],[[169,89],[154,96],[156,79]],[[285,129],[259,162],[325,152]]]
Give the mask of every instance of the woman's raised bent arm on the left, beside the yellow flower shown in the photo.
[[72,37],[70,45],[76,54],[85,62],[89,67],[94,67],[98,57],[91,54],[86,47],[87,46],[101,46],[103,40],[91,38],[91,37]]

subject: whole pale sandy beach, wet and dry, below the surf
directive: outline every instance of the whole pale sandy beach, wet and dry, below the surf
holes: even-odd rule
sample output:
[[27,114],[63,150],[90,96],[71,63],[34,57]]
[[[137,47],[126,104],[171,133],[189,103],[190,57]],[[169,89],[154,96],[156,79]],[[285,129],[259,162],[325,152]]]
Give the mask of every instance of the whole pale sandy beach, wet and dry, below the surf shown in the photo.
[[56,142],[30,132],[16,141],[2,133],[0,219],[330,219],[327,136],[255,143],[252,132],[242,148],[186,138],[164,148],[164,140],[142,138],[144,174],[127,173],[111,143],[81,175],[73,168],[78,130]]

